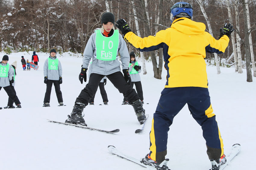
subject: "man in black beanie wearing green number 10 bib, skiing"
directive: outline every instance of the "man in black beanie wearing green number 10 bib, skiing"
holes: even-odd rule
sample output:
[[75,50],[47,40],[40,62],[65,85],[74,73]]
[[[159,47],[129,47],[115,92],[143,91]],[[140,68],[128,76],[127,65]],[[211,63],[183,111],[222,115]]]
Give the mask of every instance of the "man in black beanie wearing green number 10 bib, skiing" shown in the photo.
[[[92,59],[92,71],[89,82],[76,98],[73,111],[66,122],[87,126],[82,112],[89,100],[96,93],[101,79],[106,76],[113,85],[123,93],[129,104],[133,106],[140,124],[145,121],[145,110],[136,91],[130,86],[131,77],[128,72],[129,52],[125,41],[118,30],[114,30],[115,17],[113,13],[106,12],[101,17],[101,29],[98,29],[89,38],[83,53],[83,65],[79,80],[86,82],[86,71]],[[122,62],[123,74],[120,72],[120,62],[118,52]]]

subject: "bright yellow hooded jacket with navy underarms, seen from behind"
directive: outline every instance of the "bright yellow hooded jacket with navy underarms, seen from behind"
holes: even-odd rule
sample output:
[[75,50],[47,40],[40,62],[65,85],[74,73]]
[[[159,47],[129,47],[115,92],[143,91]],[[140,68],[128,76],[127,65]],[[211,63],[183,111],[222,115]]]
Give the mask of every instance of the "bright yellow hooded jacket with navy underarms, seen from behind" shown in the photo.
[[184,17],[174,20],[171,28],[161,30],[155,36],[141,38],[128,32],[124,39],[142,52],[163,48],[167,70],[165,88],[208,88],[206,52],[221,54],[229,43],[228,36],[216,40],[205,31],[204,23]]

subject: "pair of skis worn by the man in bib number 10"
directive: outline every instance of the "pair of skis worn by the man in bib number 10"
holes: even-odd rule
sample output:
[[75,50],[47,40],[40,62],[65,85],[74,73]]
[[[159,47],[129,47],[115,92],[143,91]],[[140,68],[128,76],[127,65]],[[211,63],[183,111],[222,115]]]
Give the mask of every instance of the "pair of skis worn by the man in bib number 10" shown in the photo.
[[[139,126],[138,129],[135,130],[135,133],[141,133],[145,127],[145,123],[148,119],[148,115],[146,115],[146,120],[144,121],[143,124],[141,124]],[[48,120],[47,121],[49,122],[52,122],[52,123],[58,123],[58,124],[65,124],[65,125],[70,125],[70,126],[75,126],[75,127],[80,127],[80,128],[83,128],[83,129],[90,129],[90,130],[96,130],[96,131],[99,131],[99,132],[105,132],[105,133],[117,133],[119,132],[120,130],[119,129],[115,129],[115,130],[102,130],[102,129],[96,129],[96,128],[93,128],[93,127],[87,127],[87,126],[83,126],[83,125],[78,125],[78,124],[70,124],[70,123],[64,123],[64,122],[59,122],[59,121],[52,121],[52,120]]]

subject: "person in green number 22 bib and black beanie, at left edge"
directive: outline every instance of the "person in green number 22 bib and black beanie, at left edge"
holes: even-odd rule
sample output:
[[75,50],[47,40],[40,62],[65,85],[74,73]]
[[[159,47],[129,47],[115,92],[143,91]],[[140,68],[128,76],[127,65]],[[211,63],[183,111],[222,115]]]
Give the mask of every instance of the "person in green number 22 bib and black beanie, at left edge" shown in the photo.
[[20,100],[11,89],[11,85],[14,82],[14,71],[11,65],[7,63],[8,61],[8,55],[4,55],[2,61],[0,62],[0,90],[3,87],[8,96],[11,98],[11,100],[14,101],[17,108],[21,108]]

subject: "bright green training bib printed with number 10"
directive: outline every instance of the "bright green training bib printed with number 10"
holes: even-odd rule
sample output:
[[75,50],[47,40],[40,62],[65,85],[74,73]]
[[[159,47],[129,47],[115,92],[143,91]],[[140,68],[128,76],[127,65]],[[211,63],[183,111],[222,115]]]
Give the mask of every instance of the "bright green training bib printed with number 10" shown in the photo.
[[111,61],[117,58],[119,44],[118,30],[114,30],[111,37],[105,37],[100,30],[96,30],[96,58],[103,61]]

